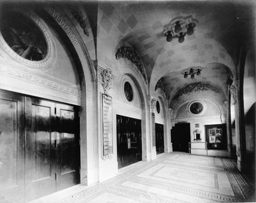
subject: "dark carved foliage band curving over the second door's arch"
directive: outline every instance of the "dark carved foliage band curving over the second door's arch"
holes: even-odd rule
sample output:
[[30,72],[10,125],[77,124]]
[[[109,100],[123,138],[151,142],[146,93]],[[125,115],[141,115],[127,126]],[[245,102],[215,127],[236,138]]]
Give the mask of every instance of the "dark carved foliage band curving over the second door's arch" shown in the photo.
[[116,59],[118,60],[120,58],[126,58],[126,59],[130,60],[134,65],[136,65],[147,84],[147,79],[146,79],[146,74],[145,74],[145,70],[143,67],[143,63],[142,63],[139,55],[137,54],[135,48],[133,48],[131,46],[122,46],[122,47],[118,48],[117,53],[116,53]]

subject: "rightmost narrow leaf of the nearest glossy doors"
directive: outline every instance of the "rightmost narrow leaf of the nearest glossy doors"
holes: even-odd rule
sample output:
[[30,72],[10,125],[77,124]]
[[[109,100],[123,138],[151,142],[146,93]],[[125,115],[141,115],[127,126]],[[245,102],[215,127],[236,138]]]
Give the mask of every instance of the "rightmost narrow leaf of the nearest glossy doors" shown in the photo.
[[59,117],[59,131],[57,133],[57,190],[61,190],[79,183],[79,125],[75,110],[71,106],[56,105]]

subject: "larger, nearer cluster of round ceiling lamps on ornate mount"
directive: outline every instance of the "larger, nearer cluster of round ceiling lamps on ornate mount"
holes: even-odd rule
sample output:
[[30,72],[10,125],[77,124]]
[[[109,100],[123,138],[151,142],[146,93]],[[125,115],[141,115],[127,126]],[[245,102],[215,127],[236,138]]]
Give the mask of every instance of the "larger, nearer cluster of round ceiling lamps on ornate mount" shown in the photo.
[[173,38],[178,38],[178,41],[182,43],[185,40],[185,35],[192,35],[194,33],[194,28],[197,24],[198,20],[192,18],[191,15],[187,17],[176,17],[164,26],[163,34],[167,42],[172,41]]

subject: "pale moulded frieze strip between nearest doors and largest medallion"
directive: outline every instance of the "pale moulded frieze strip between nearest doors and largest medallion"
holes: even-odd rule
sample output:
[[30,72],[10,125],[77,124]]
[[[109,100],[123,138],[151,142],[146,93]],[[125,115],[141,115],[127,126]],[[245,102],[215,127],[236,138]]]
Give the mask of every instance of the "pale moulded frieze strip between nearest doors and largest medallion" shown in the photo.
[[69,87],[67,85],[63,85],[60,83],[57,83],[55,81],[51,81],[45,78],[41,78],[38,75],[34,75],[28,72],[23,72],[20,70],[15,70],[15,69],[10,69],[8,67],[0,67],[0,72],[6,75],[10,75],[11,77],[14,78],[18,78],[18,79],[23,79],[25,81],[28,82],[34,82],[46,87],[50,87],[53,89],[57,89],[63,92],[68,92],[68,93],[72,93],[72,94],[76,94],[76,95],[81,95],[81,90],[80,89],[76,89],[73,87]]

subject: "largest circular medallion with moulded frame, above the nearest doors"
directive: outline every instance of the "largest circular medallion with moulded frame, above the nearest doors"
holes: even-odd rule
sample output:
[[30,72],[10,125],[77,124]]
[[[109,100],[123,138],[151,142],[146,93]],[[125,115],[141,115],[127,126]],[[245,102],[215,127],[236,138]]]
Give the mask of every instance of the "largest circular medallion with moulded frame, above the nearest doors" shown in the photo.
[[53,59],[53,43],[47,24],[25,8],[0,13],[0,46],[18,62],[46,66]]

